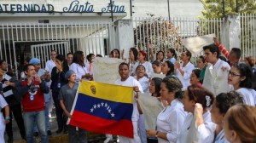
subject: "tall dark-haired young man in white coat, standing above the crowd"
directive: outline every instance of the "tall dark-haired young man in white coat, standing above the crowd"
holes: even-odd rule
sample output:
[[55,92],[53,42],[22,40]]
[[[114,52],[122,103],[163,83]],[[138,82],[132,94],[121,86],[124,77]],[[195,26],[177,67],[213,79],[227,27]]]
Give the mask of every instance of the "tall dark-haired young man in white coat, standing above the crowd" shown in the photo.
[[228,84],[228,72],[230,65],[219,59],[220,51],[215,44],[203,47],[206,60],[212,65],[207,66],[203,87],[210,90],[215,96],[220,93],[227,93],[230,90]]

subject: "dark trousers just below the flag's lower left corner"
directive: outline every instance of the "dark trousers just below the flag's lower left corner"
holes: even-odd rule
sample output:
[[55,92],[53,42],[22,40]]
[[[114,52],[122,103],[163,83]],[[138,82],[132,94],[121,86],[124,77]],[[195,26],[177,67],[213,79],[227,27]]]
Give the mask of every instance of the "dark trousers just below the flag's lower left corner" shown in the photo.
[[77,132],[76,127],[68,125],[68,142],[69,143],[87,143],[87,134],[84,129],[79,129]]

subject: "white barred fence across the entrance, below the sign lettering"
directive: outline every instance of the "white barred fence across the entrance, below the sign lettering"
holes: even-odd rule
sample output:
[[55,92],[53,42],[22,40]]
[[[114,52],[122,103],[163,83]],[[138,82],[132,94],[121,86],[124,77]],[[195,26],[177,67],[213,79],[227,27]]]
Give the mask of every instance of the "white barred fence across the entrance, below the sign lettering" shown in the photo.
[[[24,52],[32,53],[30,50],[32,45],[61,42],[68,43],[69,51],[66,52],[82,50],[84,54],[108,55],[110,47],[115,47],[113,30],[112,22],[2,25],[0,26],[0,59],[6,60],[17,69],[23,64],[21,56],[25,54]],[[58,50],[63,48],[65,46]],[[50,47],[50,49],[55,48]],[[42,52],[37,56],[44,61],[48,60],[49,51],[42,50]]]

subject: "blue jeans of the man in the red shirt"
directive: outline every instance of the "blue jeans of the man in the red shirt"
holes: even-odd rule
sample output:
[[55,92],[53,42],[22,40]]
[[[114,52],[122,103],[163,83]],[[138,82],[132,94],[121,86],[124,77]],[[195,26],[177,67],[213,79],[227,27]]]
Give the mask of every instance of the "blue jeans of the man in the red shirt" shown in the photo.
[[48,143],[48,136],[45,129],[45,112],[23,112],[24,125],[26,129],[26,142],[33,143],[34,122],[37,123],[42,143]]

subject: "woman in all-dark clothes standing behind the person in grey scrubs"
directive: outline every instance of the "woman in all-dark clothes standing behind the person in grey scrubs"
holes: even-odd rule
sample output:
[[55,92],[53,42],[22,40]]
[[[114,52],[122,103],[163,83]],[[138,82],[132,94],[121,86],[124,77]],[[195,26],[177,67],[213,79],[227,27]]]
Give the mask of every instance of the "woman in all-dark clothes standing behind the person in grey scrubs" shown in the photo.
[[50,89],[52,90],[52,97],[55,102],[55,112],[57,117],[58,129],[56,130],[57,134],[60,134],[64,129],[64,132],[67,133],[66,119],[63,116],[63,110],[61,109],[60,100],[58,95],[60,89],[63,85],[67,84],[65,79],[65,73],[68,71],[67,60],[64,55],[58,54],[55,58],[55,67],[51,72],[51,81]]

